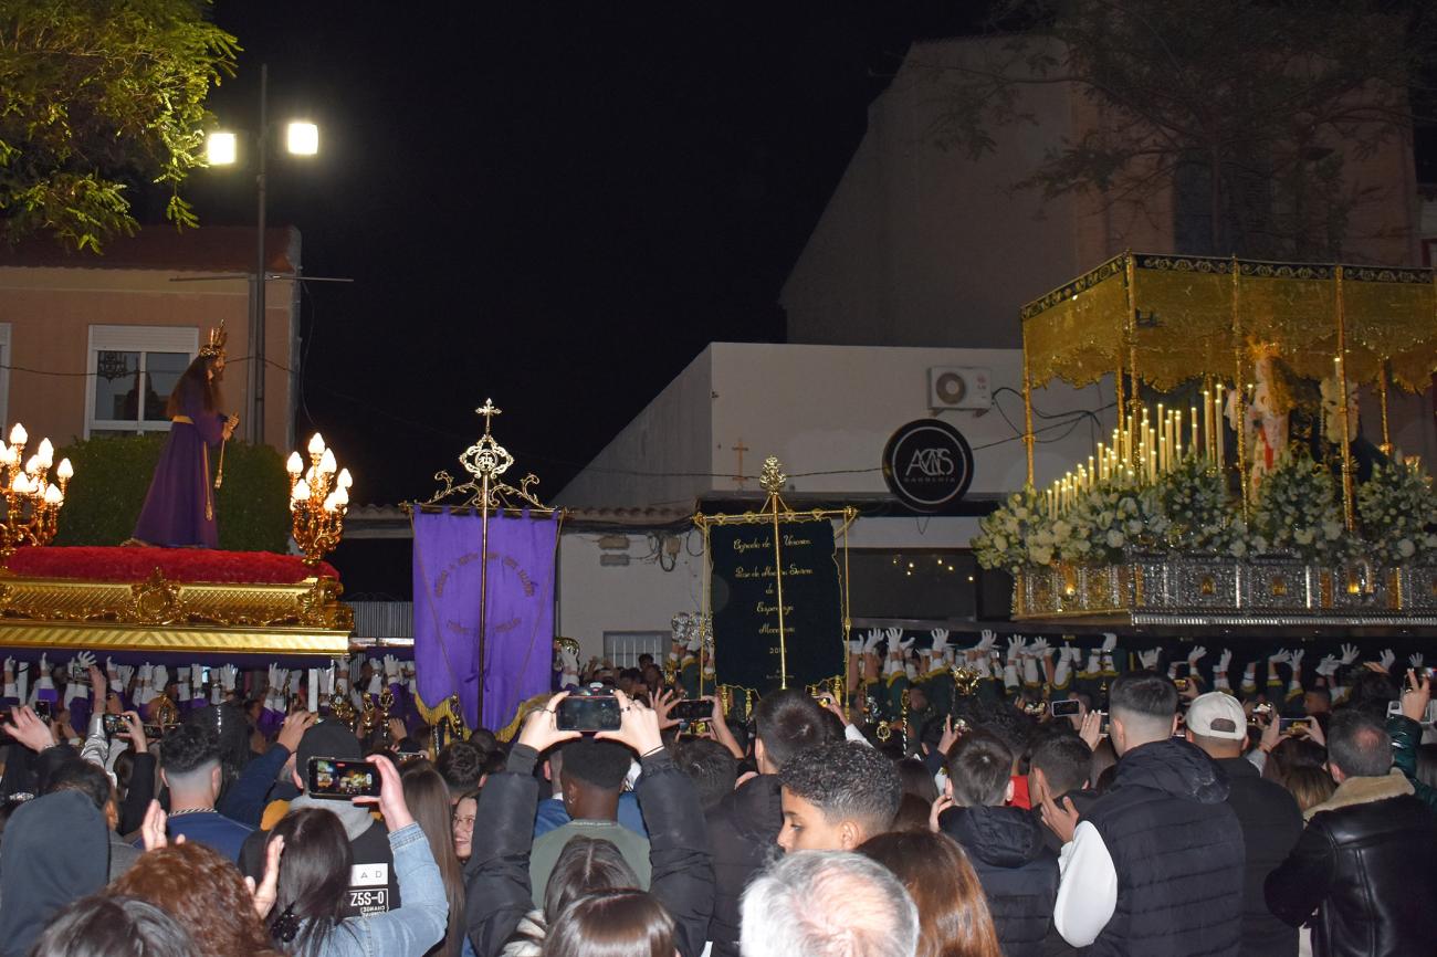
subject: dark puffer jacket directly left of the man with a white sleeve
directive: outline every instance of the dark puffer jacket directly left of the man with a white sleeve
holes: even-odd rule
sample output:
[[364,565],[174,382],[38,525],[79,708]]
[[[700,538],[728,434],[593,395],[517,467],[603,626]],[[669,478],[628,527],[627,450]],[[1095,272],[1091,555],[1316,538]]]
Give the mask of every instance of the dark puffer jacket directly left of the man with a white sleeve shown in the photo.
[[1058,855],[1022,808],[950,808],[938,819],[969,854],[1006,957],[1043,953],[1058,898]]

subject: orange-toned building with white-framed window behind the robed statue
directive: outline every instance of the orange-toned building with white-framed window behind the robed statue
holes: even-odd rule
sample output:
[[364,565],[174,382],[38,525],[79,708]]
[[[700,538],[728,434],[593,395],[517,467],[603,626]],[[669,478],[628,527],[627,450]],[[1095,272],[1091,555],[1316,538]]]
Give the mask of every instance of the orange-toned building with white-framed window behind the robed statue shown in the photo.
[[[269,230],[264,438],[293,447],[300,269],[295,228]],[[226,411],[249,408],[254,230],[154,227],[103,256],[29,243],[0,253],[0,421],[57,444],[168,431],[165,401],[224,323]],[[247,434],[241,424],[240,434]]]

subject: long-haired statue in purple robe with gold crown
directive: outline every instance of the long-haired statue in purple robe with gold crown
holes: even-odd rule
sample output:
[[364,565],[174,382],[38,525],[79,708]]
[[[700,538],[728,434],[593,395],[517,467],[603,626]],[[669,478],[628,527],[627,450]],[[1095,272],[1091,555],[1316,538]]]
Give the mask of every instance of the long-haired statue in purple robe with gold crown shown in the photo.
[[218,547],[210,460],[240,421],[218,411],[223,372],[224,333],[220,332],[210,336],[210,343],[200,349],[170,394],[165,407],[170,438],[160,453],[132,543]]

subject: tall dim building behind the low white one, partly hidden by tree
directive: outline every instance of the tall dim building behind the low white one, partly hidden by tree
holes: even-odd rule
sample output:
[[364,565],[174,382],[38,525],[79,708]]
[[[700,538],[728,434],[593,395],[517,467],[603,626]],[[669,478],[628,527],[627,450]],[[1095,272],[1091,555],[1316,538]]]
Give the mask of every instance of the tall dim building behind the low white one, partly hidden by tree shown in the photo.
[[[1000,40],[914,43],[868,111],[868,131],[780,293],[790,342],[1019,348],[1023,303],[1122,253],[1201,253],[1171,188],[1141,203],[1101,191],[1045,198],[1016,190],[1050,151],[1101,129],[1102,111],[1071,82],[1019,86],[979,158],[941,149],[944,75],[990,69]],[[1061,50],[1049,53],[1061,60]],[[1354,262],[1421,262],[1410,139],[1371,151],[1335,142]],[[1221,250],[1227,251],[1240,250]]]

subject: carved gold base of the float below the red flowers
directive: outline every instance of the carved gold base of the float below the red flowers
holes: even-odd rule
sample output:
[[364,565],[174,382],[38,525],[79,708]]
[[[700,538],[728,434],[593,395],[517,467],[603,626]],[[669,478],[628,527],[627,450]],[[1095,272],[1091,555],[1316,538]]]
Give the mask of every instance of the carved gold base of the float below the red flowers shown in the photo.
[[293,585],[0,579],[0,647],[343,655],[354,609],[332,578]]

